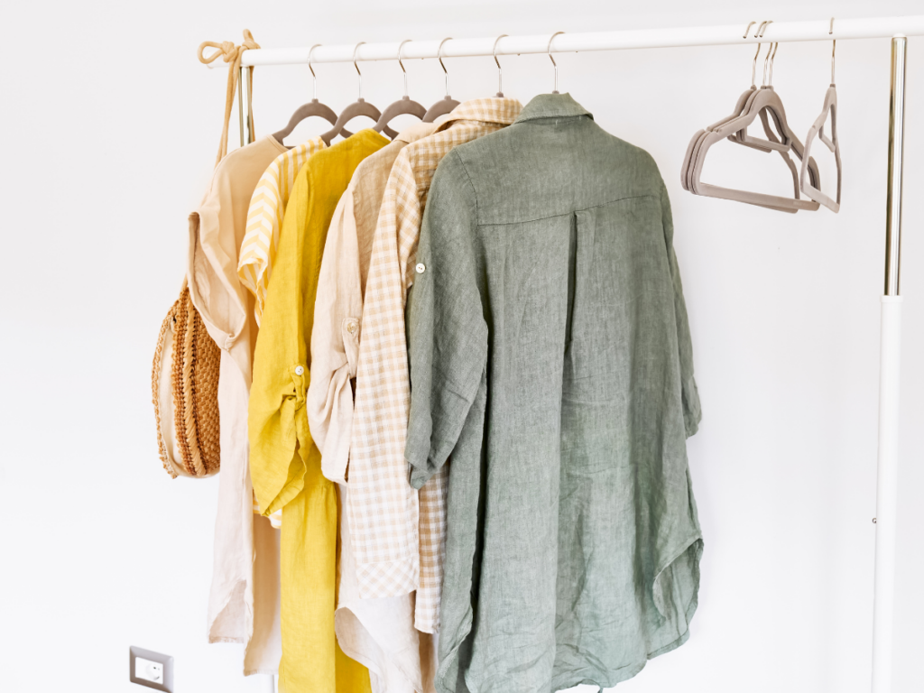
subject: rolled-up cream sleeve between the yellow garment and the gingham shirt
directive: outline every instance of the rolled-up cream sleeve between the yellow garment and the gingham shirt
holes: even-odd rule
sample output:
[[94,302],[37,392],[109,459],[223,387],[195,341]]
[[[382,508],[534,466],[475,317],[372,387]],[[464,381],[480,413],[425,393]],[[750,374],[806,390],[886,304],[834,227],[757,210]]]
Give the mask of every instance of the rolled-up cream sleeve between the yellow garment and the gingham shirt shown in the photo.
[[340,198],[327,232],[311,331],[308,423],[327,479],[346,481],[359,355],[362,289],[353,190]]

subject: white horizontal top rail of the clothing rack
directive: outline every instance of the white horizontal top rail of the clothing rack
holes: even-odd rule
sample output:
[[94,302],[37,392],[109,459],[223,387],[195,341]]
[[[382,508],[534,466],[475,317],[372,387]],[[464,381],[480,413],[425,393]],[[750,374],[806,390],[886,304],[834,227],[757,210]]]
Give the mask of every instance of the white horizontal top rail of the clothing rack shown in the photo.
[[[497,55],[540,54],[582,51],[617,51],[629,48],[672,48],[699,45],[734,45],[739,43],[772,43],[795,41],[830,41],[835,39],[885,39],[894,36],[924,35],[924,15],[911,17],[835,18],[833,32],[831,18],[809,21],[773,21],[766,25],[760,38],[754,33],[760,26],[758,18],[749,27],[748,38],[744,38],[745,25],[726,24],[720,27],[675,27],[670,29],[639,29],[623,31],[592,31],[588,33],[560,33],[550,45],[547,34],[532,36],[505,36],[483,39],[450,39],[443,44],[443,57],[472,57],[493,55],[497,42]],[[404,59],[435,58],[442,39],[434,41],[410,41],[404,44],[401,54]],[[355,43],[321,45],[311,55],[312,63],[350,63],[354,51],[358,61],[395,60],[401,42],[363,43],[357,49]],[[267,65],[298,65],[308,63],[310,47],[260,48],[245,51],[242,67]],[[223,67],[215,61],[210,67]]]

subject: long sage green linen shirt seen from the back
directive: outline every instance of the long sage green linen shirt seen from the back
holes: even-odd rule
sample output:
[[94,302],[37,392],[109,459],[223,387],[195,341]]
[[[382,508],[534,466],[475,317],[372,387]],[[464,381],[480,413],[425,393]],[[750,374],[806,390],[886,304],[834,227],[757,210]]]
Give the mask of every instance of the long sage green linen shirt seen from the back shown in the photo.
[[544,94],[433,179],[407,304],[407,461],[450,453],[437,690],[612,687],[686,641],[699,424],[647,152]]

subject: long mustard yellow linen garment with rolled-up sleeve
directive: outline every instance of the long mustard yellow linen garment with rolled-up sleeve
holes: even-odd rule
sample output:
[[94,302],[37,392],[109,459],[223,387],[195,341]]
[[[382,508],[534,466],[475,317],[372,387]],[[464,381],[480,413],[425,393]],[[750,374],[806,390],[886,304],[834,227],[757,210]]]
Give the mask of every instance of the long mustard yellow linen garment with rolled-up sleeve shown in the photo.
[[369,671],[334,637],[337,494],[311,440],[314,298],[334,208],[359,162],[388,144],[362,130],[314,153],[298,173],[263,308],[249,402],[250,476],[261,513],[283,510],[281,579],[285,693],[369,693]]

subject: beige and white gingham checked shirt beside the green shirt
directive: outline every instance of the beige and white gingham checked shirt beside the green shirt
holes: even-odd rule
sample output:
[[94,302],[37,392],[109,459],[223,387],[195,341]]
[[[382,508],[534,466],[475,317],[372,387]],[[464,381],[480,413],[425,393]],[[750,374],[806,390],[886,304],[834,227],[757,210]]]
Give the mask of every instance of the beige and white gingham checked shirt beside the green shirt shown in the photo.
[[522,108],[506,98],[461,103],[430,137],[408,144],[388,177],[372,241],[350,441],[350,539],[361,597],[417,590],[415,626],[427,633],[439,628],[448,470],[419,492],[408,483],[405,302],[437,165],[456,145],[513,123]]

